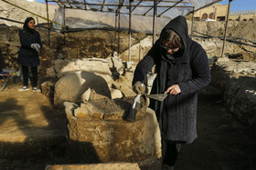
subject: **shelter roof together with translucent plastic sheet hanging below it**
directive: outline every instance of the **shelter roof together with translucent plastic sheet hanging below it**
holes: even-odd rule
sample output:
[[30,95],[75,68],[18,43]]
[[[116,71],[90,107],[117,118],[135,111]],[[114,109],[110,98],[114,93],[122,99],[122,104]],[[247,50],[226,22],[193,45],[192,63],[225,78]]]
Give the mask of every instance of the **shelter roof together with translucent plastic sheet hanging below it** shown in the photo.
[[[85,29],[118,27],[118,33],[120,29],[129,29],[130,49],[132,31],[153,34],[155,42],[155,35],[172,18],[187,15],[219,1],[221,0],[46,0],[46,3],[59,5],[54,22],[60,25],[53,24],[55,28],[60,28],[61,25]],[[120,38],[118,39],[119,42]],[[130,58],[129,51],[129,61]]]

